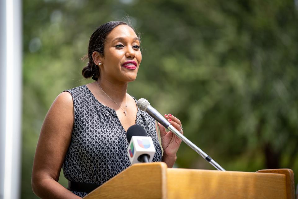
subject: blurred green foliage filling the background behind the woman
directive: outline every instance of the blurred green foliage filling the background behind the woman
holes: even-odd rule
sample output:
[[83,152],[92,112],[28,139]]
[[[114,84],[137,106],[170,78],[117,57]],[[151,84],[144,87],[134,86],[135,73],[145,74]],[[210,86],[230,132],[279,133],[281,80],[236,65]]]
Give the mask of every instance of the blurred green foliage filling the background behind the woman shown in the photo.
[[[130,17],[142,64],[128,92],[183,124],[226,170],[298,175],[298,29],[293,0],[24,0],[22,198],[56,96],[87,84],[79,59],[96,27]],[[182,143],[177,167],[214,169]],[[61,184],[66,180],[61,175]]]

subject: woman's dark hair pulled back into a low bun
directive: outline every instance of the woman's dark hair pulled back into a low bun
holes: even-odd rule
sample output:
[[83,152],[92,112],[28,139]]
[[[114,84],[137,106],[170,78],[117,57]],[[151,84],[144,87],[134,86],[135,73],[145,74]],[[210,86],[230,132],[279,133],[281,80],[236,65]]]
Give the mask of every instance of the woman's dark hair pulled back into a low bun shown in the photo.
[[[106,43],[106,37],[118,25],[128,25],[128,24],[123,21],[110,21],[99,26],[91,35],[89,40],[89,46],[88,46],[88,54],[86,55],[86,58],[87,56],[89,58],[89,62],[88,62],[88,65],[84,67],[82,70],[82,75],[85,78],[92,77],[92,79],[97,81],[99,77],[100,69],[93,62],[92,54],[94,51],[97,51],[102,56],[104,56],[104,46]],[[128,26],[131,27],[131,25],[128,25]]]

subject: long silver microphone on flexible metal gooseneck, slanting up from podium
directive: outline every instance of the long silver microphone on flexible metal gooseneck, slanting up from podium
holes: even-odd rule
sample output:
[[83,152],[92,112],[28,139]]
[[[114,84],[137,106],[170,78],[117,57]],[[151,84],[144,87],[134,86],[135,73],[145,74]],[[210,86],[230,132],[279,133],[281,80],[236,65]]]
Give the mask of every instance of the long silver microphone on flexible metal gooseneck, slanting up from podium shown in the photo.
[[185,142],[190,148],[196,151],[199,155],[201,155],[207,162],[209,162],[212,166],[214,166],[217,170],[225,171],[217,162],[215,162],[209,155],[207,155],[204,151],[202,151],[199,147],[197,147],[194,143],[188,140],[185,136],[183,136],[168,120],[166,120],[156,109],[154,109],[147,99],[141,98],[137,102],[137,106],[142,111],[146,111],[152,118],[154,118],[157,122],[162,124],[165,128],[173,132],[177,137],[179,137],[183,142]]

